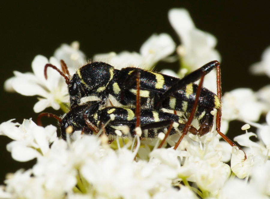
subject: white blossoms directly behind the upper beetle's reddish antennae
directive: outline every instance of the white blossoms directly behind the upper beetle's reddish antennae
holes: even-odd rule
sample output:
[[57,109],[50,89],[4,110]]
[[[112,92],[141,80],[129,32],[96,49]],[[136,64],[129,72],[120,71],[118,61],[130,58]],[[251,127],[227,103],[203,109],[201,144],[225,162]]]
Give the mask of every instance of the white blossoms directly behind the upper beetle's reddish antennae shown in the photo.
[[[72,59],[72,54],[78,54],[77,57],[75,56],[76,60]],[[84,55],[80,51],[70,48],[67,45],[62,45],[61,48],[56,50],[55,55],[59,59],[66,59],[67,63],[72,63],[72,66],[84,59]],[[39,101],[34,106],[34,111],[36,113],[43,111],[47,107],[52,107],[55,110],[58,110],[62,103],[69,102],[67,84],[65,83],[64,77],[62,77],[56,70],[48,68],[48,79],[45,79],[44,66],[47,63],[51,63],[61,70],[60,60],[57,58],[51,57],[48,60],[42,55],[37,55],[32,62],[34,73],[21,73],[14,71],[15,76],[6,80],[4,84],[4,88],[7,91],[16,91],[21,95],[26,96],[40,96],[41,98],[38,98]],[[75,72],[74,67],[73,69],[70,67],[69,70],[71,74],[72,72]]]

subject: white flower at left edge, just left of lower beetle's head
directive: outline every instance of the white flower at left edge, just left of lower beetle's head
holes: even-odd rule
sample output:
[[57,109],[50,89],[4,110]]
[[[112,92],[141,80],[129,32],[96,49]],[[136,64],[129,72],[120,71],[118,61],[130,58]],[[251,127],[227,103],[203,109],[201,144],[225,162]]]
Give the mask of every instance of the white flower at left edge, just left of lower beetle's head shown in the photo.
[[56,139],[56,127],[40,127],[32,120],[24,120],[20,125],[10,120],[0,124],[0,135],[14,140],[7,145],[7,150],[13,159],[24,162],[41,156],[36,149],[42,154],[48,152],[49,143]]

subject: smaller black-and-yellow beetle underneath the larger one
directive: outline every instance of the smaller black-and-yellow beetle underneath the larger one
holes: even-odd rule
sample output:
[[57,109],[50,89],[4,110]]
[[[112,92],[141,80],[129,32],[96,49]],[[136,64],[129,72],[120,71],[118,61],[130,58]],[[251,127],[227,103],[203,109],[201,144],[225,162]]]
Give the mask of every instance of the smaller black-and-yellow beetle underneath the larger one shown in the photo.
[[[74,107],[65,114],[60,121],[60,129],[63,139],[66,139],[65,132],[68,126],[72,127],[73,132],[76,130],[82,130],[83,133],[92,134],[93,130],[88,126],[89,122],[100,130],[102,129],[102,125],[110,120],[111,114],[114,115],[114,120],[110,121],[107,126],[104,127],[107,135],[116,135],[115,130],[124,132],[127,127],[131,136],[135,135],[135,109],[106,107],[101,110],[97,110],[99,106],[100,103],[90,105],[89,103],[82,104]],[[185,121],[177,115],[150,109],[141,110],[140,123],[143,132],[142,137],[156,138],[160,132],[167,133],[167,127],[171,122],[178,123],[179,126],[177,128],[180,131],[183,130]],[[172,129],[170,131],[170,135],[174,133],[176,133],[176,130]],[[123,136],[125,136],[125,134],[123,134]]]

